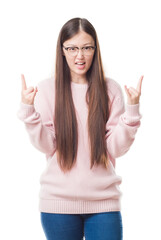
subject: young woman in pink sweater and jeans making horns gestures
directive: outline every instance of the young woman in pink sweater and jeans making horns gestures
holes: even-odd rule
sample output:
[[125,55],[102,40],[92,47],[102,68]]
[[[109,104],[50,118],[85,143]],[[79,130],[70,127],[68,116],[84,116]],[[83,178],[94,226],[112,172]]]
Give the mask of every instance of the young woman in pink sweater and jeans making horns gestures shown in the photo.
[[55,77],[27,88],[22,78],[18,117],[31,143],[46,154],[41,176],[41,222],[48,240],[121,240],[115,158],[125,154],[140,126],[137,88],[126,109],[117,82],[105,78],[92,24],[81,18],[62,27]]

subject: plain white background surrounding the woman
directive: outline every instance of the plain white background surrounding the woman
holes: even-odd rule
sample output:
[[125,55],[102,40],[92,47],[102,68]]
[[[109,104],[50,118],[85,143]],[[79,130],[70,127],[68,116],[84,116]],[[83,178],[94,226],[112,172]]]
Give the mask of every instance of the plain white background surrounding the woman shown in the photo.
[[106,76],[123,91],[144,75],[141,127],[116,172],[123,180],[124,240],[161,239],[160,10],[159,0],[0,2],[0,239],[45,240],[38,194],[46,160],[16,115],[21,73],[28,86],[53,74],[59,30],[73,17],[94,25]]

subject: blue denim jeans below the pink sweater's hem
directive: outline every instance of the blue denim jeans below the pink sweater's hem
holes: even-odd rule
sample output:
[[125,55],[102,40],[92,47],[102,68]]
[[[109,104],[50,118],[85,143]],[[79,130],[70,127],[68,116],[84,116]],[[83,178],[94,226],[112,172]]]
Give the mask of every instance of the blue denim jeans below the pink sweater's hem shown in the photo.
[[[57,214],[41,212],[47,240],[122,240],[121,212]],[[85,238],[83,238],[85,237]]]

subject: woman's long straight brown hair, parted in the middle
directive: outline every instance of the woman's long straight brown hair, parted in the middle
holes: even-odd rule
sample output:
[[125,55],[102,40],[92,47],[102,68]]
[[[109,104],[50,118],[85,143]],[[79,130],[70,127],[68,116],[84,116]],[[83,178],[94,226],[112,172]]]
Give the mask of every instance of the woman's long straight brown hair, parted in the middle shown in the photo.
[[66,40],[72,38],[80,30],[91,35],[96,46],[91,67],[86,73],[91,168],[94,164],[103,164],[107,167],[108,163],[105,125],[109,117],[109,99],[99,42],[94,27],[87,19],[73,18],[64,24],[59,33],[55,66],[54,124],[58,163],[64,172],[70,170],[76,162],[78,126],[71,92],[70,69],[63,56],[62,46]]

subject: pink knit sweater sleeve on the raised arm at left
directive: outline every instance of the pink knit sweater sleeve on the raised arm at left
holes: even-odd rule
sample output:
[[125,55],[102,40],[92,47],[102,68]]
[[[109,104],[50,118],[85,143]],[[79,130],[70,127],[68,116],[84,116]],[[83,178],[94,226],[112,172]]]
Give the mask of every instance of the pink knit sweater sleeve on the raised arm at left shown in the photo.
[[49,109],[41,89],[35,97],[34,105],[20,103],[17,117],[24,122],[32,145],[39,151],[50,155],[56,150],[55,131]]

